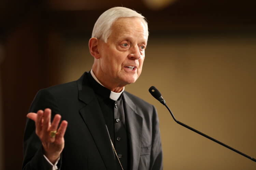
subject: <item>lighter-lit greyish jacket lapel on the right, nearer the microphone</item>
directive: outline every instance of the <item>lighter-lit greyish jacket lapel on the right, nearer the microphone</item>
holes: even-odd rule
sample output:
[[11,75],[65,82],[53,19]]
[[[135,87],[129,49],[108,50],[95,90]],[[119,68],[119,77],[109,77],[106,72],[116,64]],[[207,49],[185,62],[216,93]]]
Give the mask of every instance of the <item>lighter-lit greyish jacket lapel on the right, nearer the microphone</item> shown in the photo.
[[140,161],[141,134],[143,119],[136,113],[136,105],[124,92],[127,131],[130,143],[130,169],[137,170]]

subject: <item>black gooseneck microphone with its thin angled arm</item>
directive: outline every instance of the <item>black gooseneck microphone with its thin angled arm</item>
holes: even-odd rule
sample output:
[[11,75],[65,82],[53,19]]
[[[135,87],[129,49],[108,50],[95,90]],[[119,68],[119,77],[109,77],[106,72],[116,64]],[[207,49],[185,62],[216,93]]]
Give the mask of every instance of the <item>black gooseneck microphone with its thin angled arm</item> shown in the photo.
[[218,141],[218,140],[216,140],[216,139],[214,139],[214,138],[212,138],[212,137],[210,137],[210,136],[208,136],[208,135],[205,135],[204,133],[199,132],[198,130],[196,130],[196,129],[194,129],[194,128],[191,128],[190,126],[188,126],[188,125],[186,125],[186,124],[184,124],[184,123],[182,123],[182,122],[176,120],[175,117],[174,117],[174,115],[173,115],[173,113],[172,113],[172,111],[171,111],[170,108],[166,105],[165,100],[162,98],[161,93],[160,93],[154,86],[151,86],[151,87],[148,89],[148,91],[150,92],[150,94],[151,94],[155,99],[157,99],[160,103],[162,103],[162,104],[168,109],[168,111],[170,112],[170,114],[171,114],[173,120],[174,120],[176,123],[178,123],[178,124],[184,126],[184,127],[187,128],[187,129],[190,129],[191,131],[194,131],[194,132],[198,133],[199,135],[202,135],[202,136],[204,136],[204,137],[206,137],[206,138],[208,138],[208,139],[210,139],[210,140],[212,140],[212,141],[218,143],[219,145],[222,145],[222,146],[224,146],[224,147],[226,147],[226,148],[228,148],[228,149],[230,149],[230,150],[232,150],[232,151],[234,151],[234,152],[236,152],[236,153],[239,153],[240,155],[243,155],[243,156],[245,156],[246,158],[251,159],[252,161],[256,162],[256,159],[255,159],[255,158],[253,158],[253,157],[251,157],[251,156],[248,156],[248,155],[246,155],[246,154],[244,154],[244,153],[242,153],[242,152],[240,152],[240,151],[238,151],[238,150],[236,150],[236,149],[234,149],[234,148],[231,148],[230,146],[228,146],[228,145],[226,145],[226,144],[224,144],[224,143],[222,143],[222,142],[220,142],[220,141]]

